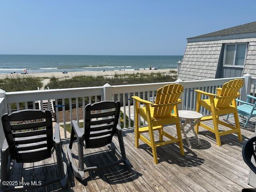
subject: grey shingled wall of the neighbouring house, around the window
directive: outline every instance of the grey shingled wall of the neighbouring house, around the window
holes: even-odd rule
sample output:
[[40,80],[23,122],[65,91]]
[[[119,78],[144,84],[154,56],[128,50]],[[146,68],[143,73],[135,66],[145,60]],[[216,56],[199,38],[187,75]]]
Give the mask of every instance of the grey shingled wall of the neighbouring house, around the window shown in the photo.
[[[244,70],[223,67],[223,45],[239,42],[249,42]],[[242,76],[247,73],[256,77],[256,38],[188,42],[178,78],[184,81],[203,80]]]

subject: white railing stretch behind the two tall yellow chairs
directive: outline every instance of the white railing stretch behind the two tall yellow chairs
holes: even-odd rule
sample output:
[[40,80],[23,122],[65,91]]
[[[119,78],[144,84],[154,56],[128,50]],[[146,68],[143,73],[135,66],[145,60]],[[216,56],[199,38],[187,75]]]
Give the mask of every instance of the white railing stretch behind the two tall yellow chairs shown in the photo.
[[[237,77],[236,77],[237,78]],[[211,80],[195,80],[195,81],[182,81],[176,80],[175,82],[163,82],[163,83],[150,83],[150,84],[134,84],[134,85],[118,85],[108,86],[109,94],[112,93],[112,100],[118,100],[122,103],[124,112],[124,127],[131,127],[132,114],[135,116],[135,110],[133,108],[132,96],[136,95],[143,99],[154,101],[156,96],[156,90],[166,84],[180,83],[183,85],[184,90],[181,95],[182,104],[179,106],[182,110],[196,110],[196,92],[194,90],[200,89],[205,92],[211,92],[216,94],[216,88],[221,87],[225,82],[236,78],[221,78]],[[245,77],[238,77],[244,79]],[[207,99],[207,96],[202,95],[201,99]],[[128,111],[126,108],[128,107]],[[208,110],[201,108],[200,112],[204,115],[209,114]],[[128,114],[126,114],[128,113]],[[128,118],[128,125],[126,125],[126,115]],[[140,117],[139,117],[140,118]],[[139,119],[140,121],[140,119]],[[120,118],[119,118],[120,122]],[[143,124],[145,120],[142,119]]]

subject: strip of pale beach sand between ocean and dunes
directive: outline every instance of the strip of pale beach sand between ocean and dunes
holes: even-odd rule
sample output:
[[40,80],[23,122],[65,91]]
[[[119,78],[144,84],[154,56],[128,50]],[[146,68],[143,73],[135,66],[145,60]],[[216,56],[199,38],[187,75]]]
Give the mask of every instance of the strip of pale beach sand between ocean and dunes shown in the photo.
[[169,74],[170,70],[177,71],[177,69],[160,69],[160,70],[134,70],[134,71],[94,71],[94,72],[68,72],[68,74],[63,74],[62,72],[52,72],[52,73],[32,73],[32,74],[0,74],[0,79],[4,78],[17,78],[17,77],[39,77],[39,78],[72,78],[74,76],[114,76],[122,74],[150,74],[150,73],[166,73]]

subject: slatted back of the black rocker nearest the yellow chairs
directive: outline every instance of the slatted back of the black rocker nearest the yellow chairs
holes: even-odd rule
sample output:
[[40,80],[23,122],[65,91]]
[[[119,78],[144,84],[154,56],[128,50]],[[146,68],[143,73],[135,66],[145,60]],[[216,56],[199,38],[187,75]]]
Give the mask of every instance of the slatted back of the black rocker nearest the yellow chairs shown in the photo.
[[[120,102],[103,101],[87,104],[84,118],[86,148],[98,148],[110,144],[116,133],[119,115]],[[96,118],[100,120],[93,120]]]

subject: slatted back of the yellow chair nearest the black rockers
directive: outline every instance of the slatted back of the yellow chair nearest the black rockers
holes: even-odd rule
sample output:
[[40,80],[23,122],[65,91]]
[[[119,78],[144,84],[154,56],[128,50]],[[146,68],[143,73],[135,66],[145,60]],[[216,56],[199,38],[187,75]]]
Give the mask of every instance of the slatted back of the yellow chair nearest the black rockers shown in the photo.
[[169,84],[161,87],[156,92],[154,107],[154,118],[170,116],[174,106],[181,102],[179,99],[183,91],[181,84]]

